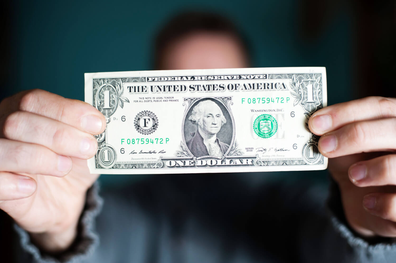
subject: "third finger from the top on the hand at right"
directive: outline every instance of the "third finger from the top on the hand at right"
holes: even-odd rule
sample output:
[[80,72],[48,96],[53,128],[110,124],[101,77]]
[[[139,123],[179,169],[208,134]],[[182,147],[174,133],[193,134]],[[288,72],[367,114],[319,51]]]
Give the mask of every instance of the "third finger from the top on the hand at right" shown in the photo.
[[396,155],[389,154],[355,163],[348,170],[357,186],[396,185]]

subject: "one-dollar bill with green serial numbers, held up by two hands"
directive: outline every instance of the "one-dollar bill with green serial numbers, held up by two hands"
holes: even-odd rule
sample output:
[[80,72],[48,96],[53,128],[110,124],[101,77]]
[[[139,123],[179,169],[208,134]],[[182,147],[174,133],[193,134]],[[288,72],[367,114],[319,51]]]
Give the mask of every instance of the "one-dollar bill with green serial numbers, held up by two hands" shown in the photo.
[[322,170],[308,119],[327,105],[326,68],[85,74],[107,119],[91,173]]

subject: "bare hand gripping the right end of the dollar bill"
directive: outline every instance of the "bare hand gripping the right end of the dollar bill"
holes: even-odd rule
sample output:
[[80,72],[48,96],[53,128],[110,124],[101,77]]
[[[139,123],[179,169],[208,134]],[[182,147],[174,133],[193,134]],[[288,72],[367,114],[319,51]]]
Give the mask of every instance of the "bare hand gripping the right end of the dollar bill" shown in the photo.
[[396,99],[367,97],[318,110],[309,129],[322,137],[346,219],[365,237],[396,237]]

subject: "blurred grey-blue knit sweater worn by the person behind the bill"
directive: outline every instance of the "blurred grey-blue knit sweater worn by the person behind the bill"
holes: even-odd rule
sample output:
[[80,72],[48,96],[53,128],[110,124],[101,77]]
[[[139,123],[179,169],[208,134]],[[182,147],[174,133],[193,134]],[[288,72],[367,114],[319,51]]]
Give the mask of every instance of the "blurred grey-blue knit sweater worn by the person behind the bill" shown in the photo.
[[260,176],[150,176],[104,191],[102,198],[95,184],[69,250],[48,255],[15,225],[12,258],[17,263],[396,262],[395,239],[365,239],[348,227],[334,182],[328,187],[257,180]]

